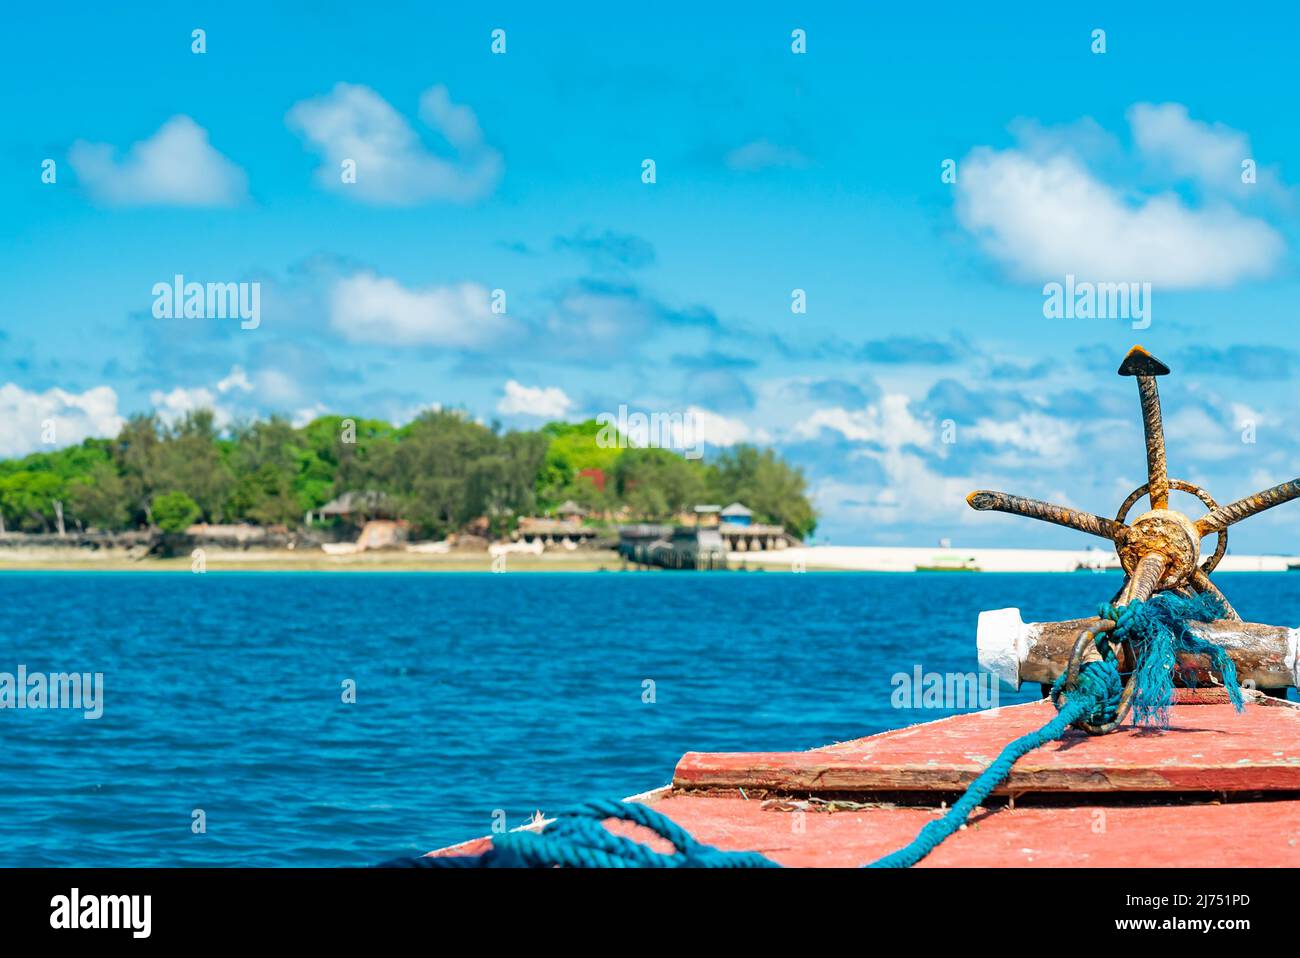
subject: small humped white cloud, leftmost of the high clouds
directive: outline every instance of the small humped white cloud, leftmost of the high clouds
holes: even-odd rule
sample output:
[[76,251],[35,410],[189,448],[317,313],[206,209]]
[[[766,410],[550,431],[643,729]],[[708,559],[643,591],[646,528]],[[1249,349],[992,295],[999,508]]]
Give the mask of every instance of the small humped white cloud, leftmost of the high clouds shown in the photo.
[[108,143],[77,140],[68,162],[99,203],[226,207],[248,194],[244,172],[208,142],[208,131],[176,116],[122,160]]

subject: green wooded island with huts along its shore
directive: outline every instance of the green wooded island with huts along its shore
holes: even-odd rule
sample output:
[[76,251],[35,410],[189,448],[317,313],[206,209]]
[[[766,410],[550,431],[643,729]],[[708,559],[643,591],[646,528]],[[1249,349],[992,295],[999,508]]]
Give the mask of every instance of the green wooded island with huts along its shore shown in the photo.
[[716,525],[727,503],[783,547],[816,528],[802,471],[770,448],[688,458],[607,432],[595,420],[503,432],[455,409],[402,426],[273,416],[218,429],[205,409],[173,422],[138,415],[114,438],[0,461],[0,565],[82,565],[87,551],[188,562],[211,546],[298,552],[295,567],[304,552],[391,565],[380,554],[402,551],[471,568],[474,552],[517,551],[520,568],[529,552],[563,549],[568,567],[603,568],[620,528]]

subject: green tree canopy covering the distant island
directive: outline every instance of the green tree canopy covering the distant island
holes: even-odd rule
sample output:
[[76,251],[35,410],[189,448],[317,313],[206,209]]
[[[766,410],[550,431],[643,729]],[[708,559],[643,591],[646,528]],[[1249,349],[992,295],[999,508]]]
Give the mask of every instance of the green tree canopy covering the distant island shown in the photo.
[[454,409],[398,428],[321,416],[216,426],[209,411],[173,422],[133,416],[113,439],[0,461],[8,530],[122,530],[190,524],[295,526],[343,493],[352,519],[386,512],[445,536],[486,520],[493,533],[575,500],[598,516],[670,520],[693,506],[740,500],[757,521],[806,537],[816,525],[801,469],[770,448],[733,446],[711,460],[663,448],[606,447],[594,421],[502,432]]

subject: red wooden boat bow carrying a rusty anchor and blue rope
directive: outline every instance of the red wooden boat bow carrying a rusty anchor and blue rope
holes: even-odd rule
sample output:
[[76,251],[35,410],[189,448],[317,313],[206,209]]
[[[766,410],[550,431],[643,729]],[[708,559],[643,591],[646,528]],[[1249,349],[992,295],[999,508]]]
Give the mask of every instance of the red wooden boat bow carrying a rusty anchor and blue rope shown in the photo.
[[[1040,682],[1046,698],[811,751],[689,751],[671,784],[627,801],[722,851],[757,851],[783,866],[848,867],[916,845],[922,829],[946,822],[954,799],[998,768],[996,788],[953,824],[946,841],[922,851],[920,863],[1180,867],[1192,850],[1201,867],[1300,866],[1300,706],[1286,698],[1300,686],[1300,629],[1244,621],[1209,578],[1226,552],[1227,528],[1300,498],[1300,480],[1219,506],[1199,486],[1170,478],[1156,390],[1156,377],[1167,372],[1141,347],[1119,368],[1138,380],[1148,482],[1115,519],[1006,493],[967,499],[976,510],[1056,523],[1115,545],[1124,581],[1098,615],[1023,623],[1019,610],[1004,608],[979,616],[980,676],[997,689]],[[1170,508],[1170,490],[1196,495],[1209,511],[1184,516]],[[1144,495],[1150,508],[1126,521]],[[1210,534],[1217,547],[1201,562],[1200,539]],[[1144,643],[1156,642],[1156,633],[1130,628],[1150,608],[1210,610],[1218,617],[1188,615],[1173,627],[1162,620],[1169,642],[1161,653],[1175,663],[1169,668],[1164,658],[1147,658]],[[1087,718],[1066,727],[1074,695],[1082,702],[1096,688],[1087,677],[1110,673],[1114,684],[1098,698],[1109,711],[1071,711]],[[1145,697],[1160,681],[1169,695],[1153,703]],[[1124,725],[1130,710],[1139,721]],[[1157,714],[1162,721],[1150,720]],[[1046,736],[1057,719],[1061,731]],[[1027,740],[1034,745],[998,764],[1009,744]],[[545,827],[542,820],[524,831]],[[606,827],[671,851],[641,825]],[[485,837],[430,855],[472,859],[491,849]]]

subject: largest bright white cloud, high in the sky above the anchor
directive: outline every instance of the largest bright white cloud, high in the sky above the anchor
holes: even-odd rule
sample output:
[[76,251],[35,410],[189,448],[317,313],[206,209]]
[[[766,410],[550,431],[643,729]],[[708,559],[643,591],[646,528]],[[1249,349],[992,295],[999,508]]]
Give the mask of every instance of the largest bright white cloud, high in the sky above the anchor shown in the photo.
[[[1188,133],[1167,110],[1135,116],[1153,149]],[[1096,178],[1067,144],[1056,152],[1044,143],[971,151],[959,165],[957,217],[985,252],[1028,281],[1074,274],[1164,289],[1228,286],[1268,276],[1286,248],[1269,224],[1226,200],[1193,208],[1174,192],[1130,196]]]

